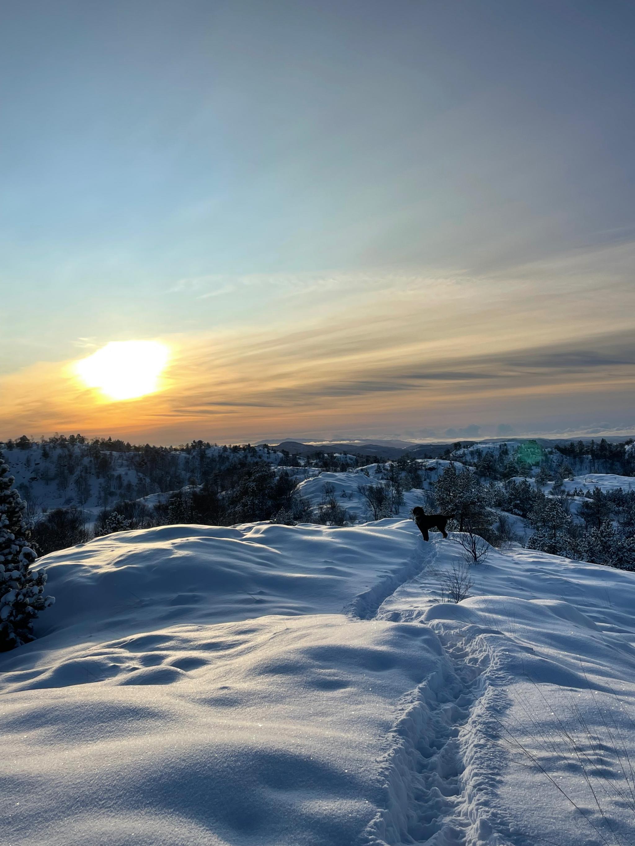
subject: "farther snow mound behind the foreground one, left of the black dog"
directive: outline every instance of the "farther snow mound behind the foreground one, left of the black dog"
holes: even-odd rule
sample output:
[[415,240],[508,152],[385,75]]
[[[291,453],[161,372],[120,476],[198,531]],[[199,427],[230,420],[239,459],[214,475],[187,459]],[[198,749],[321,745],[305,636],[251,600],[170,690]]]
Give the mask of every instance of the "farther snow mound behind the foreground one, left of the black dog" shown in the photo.
[[265,614],[341,613],[367,591],[378,604],[415,573],[417,534],[411,520],[386,519],[345,529],[171,525],[96,538],[38,562],[56,604],[37,621],[37,642],[46,648],[44,639],[55,635],[57,643],[62,630],[82,639]]

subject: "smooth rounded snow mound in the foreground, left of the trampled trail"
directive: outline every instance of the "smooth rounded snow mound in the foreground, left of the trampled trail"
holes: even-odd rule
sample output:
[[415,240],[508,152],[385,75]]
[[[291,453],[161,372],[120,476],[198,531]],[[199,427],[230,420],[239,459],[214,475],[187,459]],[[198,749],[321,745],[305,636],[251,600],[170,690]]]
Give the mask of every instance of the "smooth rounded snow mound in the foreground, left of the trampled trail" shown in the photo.
[[5,697],[3,842],[353,843],[395,700],[440,662],[422,626],[329,615],[103,643]]

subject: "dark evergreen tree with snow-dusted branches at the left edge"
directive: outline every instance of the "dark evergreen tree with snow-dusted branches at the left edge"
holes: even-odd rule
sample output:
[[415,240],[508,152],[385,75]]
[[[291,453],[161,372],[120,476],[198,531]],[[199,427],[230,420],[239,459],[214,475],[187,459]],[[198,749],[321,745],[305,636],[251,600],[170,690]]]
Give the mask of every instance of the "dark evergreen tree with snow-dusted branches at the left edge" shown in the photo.
[[33,573],[37,556],[29,546],[24,503],[0,453],[0,652],[33,640],[33,619],[55,602],[44,596],[47,575]]

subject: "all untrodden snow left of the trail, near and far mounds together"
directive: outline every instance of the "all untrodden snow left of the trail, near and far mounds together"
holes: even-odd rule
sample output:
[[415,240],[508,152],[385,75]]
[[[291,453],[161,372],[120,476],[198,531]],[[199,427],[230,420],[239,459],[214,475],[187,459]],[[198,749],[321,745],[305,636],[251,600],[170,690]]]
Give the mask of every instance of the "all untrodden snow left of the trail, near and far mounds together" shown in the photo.
[[415,574],[417,536],[169,526],[43,559],[58,606],[2,656],[3,842],[353,843],[395,709],[449,670],[431,629],[332,612]]

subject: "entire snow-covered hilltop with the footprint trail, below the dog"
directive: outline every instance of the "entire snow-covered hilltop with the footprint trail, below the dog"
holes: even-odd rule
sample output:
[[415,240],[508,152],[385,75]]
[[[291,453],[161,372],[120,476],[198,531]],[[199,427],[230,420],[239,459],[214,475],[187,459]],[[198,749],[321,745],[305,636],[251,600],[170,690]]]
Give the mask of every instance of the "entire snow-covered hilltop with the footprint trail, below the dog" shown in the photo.
[[0,656],[0,842],[635,843],[635,574],[409,520],[57,552]]

